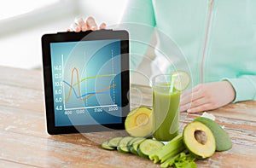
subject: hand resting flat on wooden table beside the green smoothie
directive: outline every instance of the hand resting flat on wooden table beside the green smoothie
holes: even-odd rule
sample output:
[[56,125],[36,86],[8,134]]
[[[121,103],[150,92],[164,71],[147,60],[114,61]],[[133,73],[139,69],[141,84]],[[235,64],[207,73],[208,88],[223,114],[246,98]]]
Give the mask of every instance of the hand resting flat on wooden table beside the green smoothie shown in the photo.
[[180,111],[198,113],[216,109],[235,99],[236,92],[228,81],[198,84],[192,90],[182,93]]

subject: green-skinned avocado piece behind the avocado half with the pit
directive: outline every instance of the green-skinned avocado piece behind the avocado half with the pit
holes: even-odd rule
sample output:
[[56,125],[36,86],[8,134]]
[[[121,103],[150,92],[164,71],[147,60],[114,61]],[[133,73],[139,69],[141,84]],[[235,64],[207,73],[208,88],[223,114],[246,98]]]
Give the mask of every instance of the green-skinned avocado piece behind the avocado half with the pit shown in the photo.
[[226,133],[226,131],[218,125],[212,119],[207,119],[205,117],[198,117],[195,121],[199,121],[212,130],[213,136],[215,137],[216,142],[216,151],[222,152],[229,150],[232,148],[232,142],[230,140],[230,136]]

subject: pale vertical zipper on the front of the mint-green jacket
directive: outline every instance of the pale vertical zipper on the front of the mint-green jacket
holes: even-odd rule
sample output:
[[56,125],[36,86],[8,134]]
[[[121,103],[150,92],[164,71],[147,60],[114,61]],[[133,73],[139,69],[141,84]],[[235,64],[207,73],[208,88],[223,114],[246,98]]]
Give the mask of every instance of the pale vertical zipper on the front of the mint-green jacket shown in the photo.
[[202,50],[202,55],[201,55],[201,83],[204,83],[204,64],[205,64],[205,57],[206,57],[206,52],[207,52],[207,42],[208,42],[208,36],[209,36],[209,29],[211,25],[211,20],[212,20],[212,7],[213,7],[213,1],[214,0],[209,0],[209,12],[207,16],[207,28],[206,28],[206,35],[205,35],[205,40],[203,43],[203,50]]

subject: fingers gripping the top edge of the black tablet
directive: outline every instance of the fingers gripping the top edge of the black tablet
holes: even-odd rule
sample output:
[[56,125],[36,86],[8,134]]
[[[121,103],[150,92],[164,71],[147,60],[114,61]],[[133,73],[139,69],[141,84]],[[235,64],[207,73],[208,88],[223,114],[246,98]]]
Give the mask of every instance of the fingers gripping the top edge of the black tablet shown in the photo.
[[87,19],[76,18],[71,26],[67,29],[67,32],[85,32],[85,31],[96,31],[97,29],[105,29],[106,24],[102,23],[99,27],[93,17],[88,17]]

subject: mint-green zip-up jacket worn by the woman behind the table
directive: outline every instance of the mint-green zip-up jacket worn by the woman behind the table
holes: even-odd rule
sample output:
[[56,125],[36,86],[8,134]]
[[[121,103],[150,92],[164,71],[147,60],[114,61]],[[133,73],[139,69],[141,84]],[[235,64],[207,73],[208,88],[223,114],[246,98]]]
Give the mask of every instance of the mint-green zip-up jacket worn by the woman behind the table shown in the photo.
[[[255,0],[130,0],[122,23],[131,25],[131,69],[142,61],[139,55],[157,29],[161,47],[154,49],[160,69],[169,72],[183,62],[192,87],[228,80],[236,91],[234,102],[256,100]],[[168,53],[175,50],[173,43],[183,59]]]

